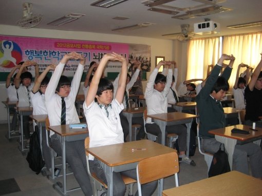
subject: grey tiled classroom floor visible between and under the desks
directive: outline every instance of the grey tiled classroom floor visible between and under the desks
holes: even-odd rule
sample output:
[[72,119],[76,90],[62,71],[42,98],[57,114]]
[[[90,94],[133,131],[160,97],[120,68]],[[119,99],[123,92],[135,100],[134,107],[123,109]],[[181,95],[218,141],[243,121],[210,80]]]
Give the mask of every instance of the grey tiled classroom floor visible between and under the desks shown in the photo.
[[[18,150],[18,143],[16,139],[9,141],[6,138],[8,126],[7,124],[1,124],[0,129],[0,189],[1,181],[7,179],[14,179],[21,191],[2,194],[9,196],[23,196],[23,195],[38,195],[38,196],[56,196],[60,195],[56,190],[52,188],[53,182],[44,177],[41,173],[36,175],[26,161],[26,156],[22,155]],[[190,166],[185,163],[180,163],[180,172],[178,174],[179,185],[188,184],[197,180],[207,178],[207,164],[204,161],[203,155],[196,150],[195,155],[192,157],[196,166]],[[77,186],[77,182],[73,176],[68,178],[68,187]],[[174,177],[169,177],[164,180],[164,189],[175,186]],[[11,189],[12,187],[10,187]],[[137,186],[134,186],[134,190],[137,190]],[[11,190],[10,190],[11,191]],[[156,195],[156,192],[153,195]],[[1,192],[0,192],[1,193]],[[181,193],[182,194],[182,193]],[[0,194],[1,195],[1,194]],[[70,193],[69,195],[84,195],[81,190]]]

